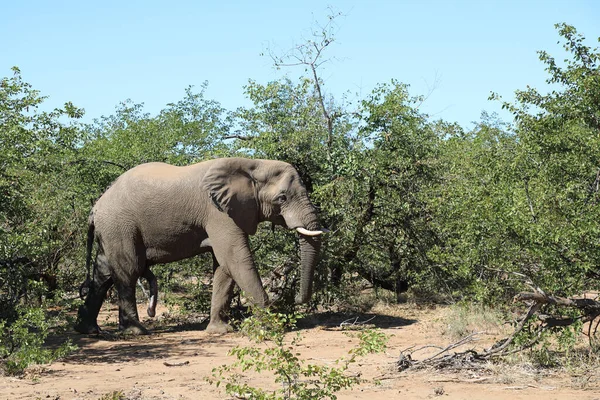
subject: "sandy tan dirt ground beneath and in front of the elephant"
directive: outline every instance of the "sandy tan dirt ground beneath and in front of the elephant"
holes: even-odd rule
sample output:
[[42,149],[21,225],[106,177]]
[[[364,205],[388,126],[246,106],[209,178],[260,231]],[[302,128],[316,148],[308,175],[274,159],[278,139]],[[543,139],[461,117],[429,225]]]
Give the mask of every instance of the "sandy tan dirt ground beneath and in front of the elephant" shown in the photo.
[[[166,315],[166,309],[158,310]],[[420,308],[414,305],[380,307],[372,314],[356,314],[359,321],[375,316],[370,323],[389,337],[388,349],[368,355],[352,364],[350,373],[360,374],[362,382],[344,390],[338,399],[596,399],[600,386],[596,372],[586,376],[567,375],[506,367],[492,373],[446,373],[438,371],[394,370],[402,350],[427,344],[447,345],[442,335],[448,309]],[[144,312],[140,305],[140,315]],[[299,332],[303,339],[297,348],[311,364],[333,365],[358,344],[339,329],[348,315],[326,314],[304,320]],[[160,317],[159,317],[160,320]],[[114,329],[114,307],[103,311],[101,326]],[[168,321],[168,320],[167,320]],[[149,321],[147,326],[151,326]],[[79,350],[68,358],[32,368],[23,378],[0,377],[1,399],[111,399],[121,392],[127,399],[228,399],[222,388],[206,381],[212,368],[229,364],[227,352],[236,345],[249,345],[238,333],[209,335],[203,324],[165,322],[149,336],[115,339],[71,335]],[[483,341],[493,343],[492,333]],[[480,344],[477,344],[480,346]],[[273,374],[248,373],[251,386],[273,387]]]

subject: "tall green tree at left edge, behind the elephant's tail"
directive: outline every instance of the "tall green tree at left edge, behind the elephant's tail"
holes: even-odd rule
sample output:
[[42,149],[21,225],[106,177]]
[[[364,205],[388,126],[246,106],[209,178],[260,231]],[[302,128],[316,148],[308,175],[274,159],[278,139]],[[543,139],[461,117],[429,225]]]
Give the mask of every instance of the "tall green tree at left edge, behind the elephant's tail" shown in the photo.
[[9,320],[35,297],[35,282],[52,296],[82,226],[69,165],[83,111],[71,103],[40,111],[43,100],[16,67],[0,81],[0,317]]

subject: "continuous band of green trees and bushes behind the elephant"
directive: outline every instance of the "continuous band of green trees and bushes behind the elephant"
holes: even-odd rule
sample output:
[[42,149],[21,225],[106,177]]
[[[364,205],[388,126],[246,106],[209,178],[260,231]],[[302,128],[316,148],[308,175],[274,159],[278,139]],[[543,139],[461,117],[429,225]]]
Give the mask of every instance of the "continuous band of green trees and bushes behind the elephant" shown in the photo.
[[[278,68],[301,66],[305,75],[250,80],[251,104],[235,112],[206,99],[205,83],[156,115],[125,101],[84,125],[83,110],[71,103],[46,111],[18,68],[2,78],[3,329],[19,326],[23,305],[64,301],[83,280],[90,204],[124,170],[232,155],[279,159],[300,172],[331,230],[315,303],[339,303],[350,286],[368,286],[397,299],[410,289],[490,304],[519,292],[524,276],[559,295],[600,289],[598,49],[557,24],[566,57],[539,52],[547,91],[527,87],[514,102],[492,94],[514,121],[483,113],[467,130],[422,113],[426,99],[396,80],[353,100],[328,93],[320,74],[339,15],[292,52],[269,52]],[[295,235],[261,226],[250,241],[262,275],[285,270],[285,293],[292,293]],[[154,272],[168,299],[206,309],[209,257]]]

